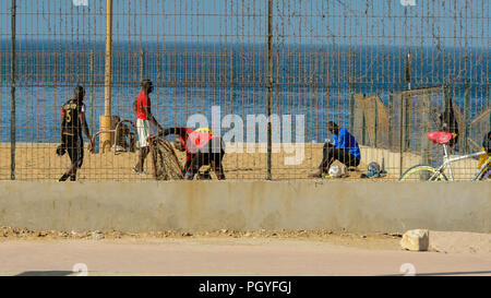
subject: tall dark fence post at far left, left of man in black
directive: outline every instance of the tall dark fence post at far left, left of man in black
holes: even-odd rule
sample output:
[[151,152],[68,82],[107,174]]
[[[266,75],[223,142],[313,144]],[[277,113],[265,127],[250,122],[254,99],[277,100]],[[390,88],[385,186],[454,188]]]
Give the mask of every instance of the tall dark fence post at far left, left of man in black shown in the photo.
[[15,180],[15,0],[11,12],[10,179]]

